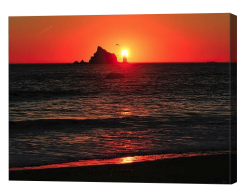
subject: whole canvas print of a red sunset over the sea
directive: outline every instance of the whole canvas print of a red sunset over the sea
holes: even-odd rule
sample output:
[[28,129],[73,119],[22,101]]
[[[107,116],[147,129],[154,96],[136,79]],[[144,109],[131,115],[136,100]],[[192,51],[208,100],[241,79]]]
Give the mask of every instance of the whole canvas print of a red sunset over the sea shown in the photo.
[[8,181],[237,183],[237,14],[8,16]]

